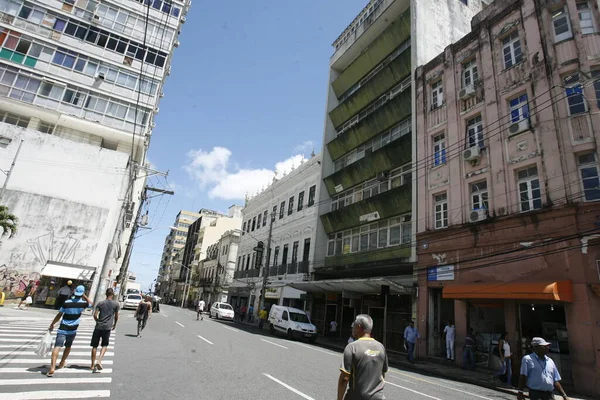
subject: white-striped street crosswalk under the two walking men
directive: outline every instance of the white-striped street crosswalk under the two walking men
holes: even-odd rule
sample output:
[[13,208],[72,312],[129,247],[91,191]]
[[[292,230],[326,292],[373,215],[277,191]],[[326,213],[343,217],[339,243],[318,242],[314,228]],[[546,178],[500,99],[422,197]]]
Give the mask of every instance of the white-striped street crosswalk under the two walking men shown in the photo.
[[[65,368],[46,376],[50,354],[42,358],[35,350],[50,325],[49,319],[7,318],[0,321],[0,400],[91,399],[110,397],[115,333],[102,362],[92,373],[90,340],[95,322],[83,316]],[[57,325],[58,328],[58,325]],[[52,334],[52,342],[56,330]],[[59,355],[58,362],[60,362]],[[58,364],[57,362],[57,364]]]

